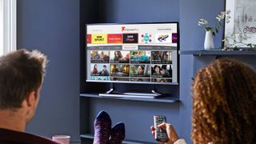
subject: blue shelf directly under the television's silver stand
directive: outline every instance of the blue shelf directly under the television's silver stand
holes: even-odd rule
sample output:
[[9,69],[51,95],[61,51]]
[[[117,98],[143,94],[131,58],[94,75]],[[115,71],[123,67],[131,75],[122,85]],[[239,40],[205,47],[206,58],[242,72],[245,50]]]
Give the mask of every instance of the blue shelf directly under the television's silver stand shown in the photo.
[[128,98],[128,97],[114,98],[114,97],[102,97],[102,96],[99,96],[98,94],[80,94],[80,97],[108,98],[108,99],[142,101],[142,102],[166,102],[166,103],[179,102],[178,97],[171,97],[171,96],[166,96],[166,97],[163,97],[163,98]]

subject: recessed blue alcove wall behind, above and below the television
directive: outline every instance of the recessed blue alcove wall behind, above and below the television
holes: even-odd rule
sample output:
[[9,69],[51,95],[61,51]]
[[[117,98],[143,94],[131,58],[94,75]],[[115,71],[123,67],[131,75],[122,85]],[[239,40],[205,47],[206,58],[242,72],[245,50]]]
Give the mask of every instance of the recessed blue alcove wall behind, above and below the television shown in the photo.
[[[161,2],[154,0],[99,0],[98,6],[92,3],[88,6],[88,3],[85,3],[85,1],[81,2],[82,14],[85,14],[81,18],[82,29],[85,27],[85,23],[83,22],[178,22],[179,20],[179,1],[177,0],[163,0]],[[88,13],[94,14],[94,18],[98,19],[90,18],[88,15],[86,16]],[[84,41],[83,38],[85,38],[85,34],[82,34],[82,41]],[[85,41],[81,44],[81,48],[85,49]],[[82,54],[82,62],[86,59],[84,57],[85,54]],[[82,64],[82,68],[84,66],[85,64]],[[83,73],[86,73],[86,70],[82,71],[82,92],[98,92],[102,87],[109,87],[99,83],[86,83]],[[114,85],[118,91],[140,90],[149,92],[149,90],[154,89],[153,85]],[[178,96],[178,86],[157,86],[157,89],[163,93]],[[86,101],[82,105],[87,106],[83,107],[82,111],[88,111],[82,112],[82,114],[87,114],[85,118],[82,118],[81,122],[89,125],[87,128],[82,125],[82,133],[94,133],[94,118],[100,110],[106,110],[110,114],[113,126],[116,122],[126,123],[126,139],[156,142],[152,134],[150,134],[150,126],[154,124],[153,116],[156,114],[166,115],[166,118],[175,125],[178,132],[180,130],[180,103],[132,102],[98,98],[85,99],[82,98],[82,101]]]

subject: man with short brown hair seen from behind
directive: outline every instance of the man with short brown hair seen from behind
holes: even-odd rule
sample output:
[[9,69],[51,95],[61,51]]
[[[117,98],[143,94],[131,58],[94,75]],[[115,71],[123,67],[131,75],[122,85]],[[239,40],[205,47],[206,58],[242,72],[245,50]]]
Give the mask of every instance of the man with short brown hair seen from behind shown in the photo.
[[0,58],[0,143],[57,143],[25,133],[38,106],[46,63],[37,50],[17,50]]

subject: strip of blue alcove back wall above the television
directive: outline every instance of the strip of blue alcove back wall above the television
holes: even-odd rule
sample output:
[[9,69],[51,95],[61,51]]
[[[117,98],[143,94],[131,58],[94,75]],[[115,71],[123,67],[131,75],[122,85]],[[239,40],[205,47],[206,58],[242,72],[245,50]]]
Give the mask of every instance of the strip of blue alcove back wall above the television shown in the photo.
[[178,22],[179,0],[108,0],[105,22]]

